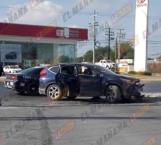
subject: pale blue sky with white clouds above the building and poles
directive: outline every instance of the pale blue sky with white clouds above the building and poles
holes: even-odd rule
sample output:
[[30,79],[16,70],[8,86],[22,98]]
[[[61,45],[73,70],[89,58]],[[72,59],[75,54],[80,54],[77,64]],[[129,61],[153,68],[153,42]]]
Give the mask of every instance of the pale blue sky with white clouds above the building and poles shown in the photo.
[[[102,24],[109,21],[113,14],[126,6],[127,3],[130,3],[132,7],[129,12],[126,16],[120,17],[117,23],[112,25],[112,27],[115,29],[125,29],[125,40],[129,40],[133,37],[135,26],[135,0],[91,0],[88,5],[83,5],[83,8],[79,10],[77,14],[72,13],[71,18],[66,19],[64,22],[64,12],[72,12],[72,9],[79,5],[79,3],[80,0],[5,0],[0,3],[0,21],[4,22],[5,20],[8,20],[15,11],[27,6],[27,11],[13,20],[13,23],[89,28],[89,23],[92,22],[92,13],[94,10],[97,11],[97,21],[99,24]],[[150,31],[152,29],[152,24],[161,21],[160,6],[160,0],[150,0]],[[149,37],[149,55],[152,57],[161,54],[160,36],[160,30],[158,30]],[[104,33],[101,33],[98,36],[98,40],[101,42],[101,45],[107,44]],[[80,46],[78,50],[79,55],[90,49],[91,43],[92,41],[89,41],[87,42],[88,45]]]

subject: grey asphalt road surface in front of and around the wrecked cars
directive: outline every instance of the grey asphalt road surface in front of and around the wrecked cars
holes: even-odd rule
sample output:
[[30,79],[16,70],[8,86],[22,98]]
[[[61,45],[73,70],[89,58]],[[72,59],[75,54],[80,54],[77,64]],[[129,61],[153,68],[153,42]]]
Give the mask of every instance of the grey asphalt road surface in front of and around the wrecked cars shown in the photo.
[[0,145],[160,145],[161,82],[146,82],[143,102],[78,98],[51,102],[0,86]]

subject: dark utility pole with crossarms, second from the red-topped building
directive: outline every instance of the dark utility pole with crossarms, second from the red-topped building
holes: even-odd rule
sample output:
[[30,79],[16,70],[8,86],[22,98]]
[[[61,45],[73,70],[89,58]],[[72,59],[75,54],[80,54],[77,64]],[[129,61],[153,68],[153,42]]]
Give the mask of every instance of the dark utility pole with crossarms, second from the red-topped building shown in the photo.
[[114,40],[114,32],[111,28],[106,28],[106,36],[108,36],[108,59],[111,59],[111,40]]

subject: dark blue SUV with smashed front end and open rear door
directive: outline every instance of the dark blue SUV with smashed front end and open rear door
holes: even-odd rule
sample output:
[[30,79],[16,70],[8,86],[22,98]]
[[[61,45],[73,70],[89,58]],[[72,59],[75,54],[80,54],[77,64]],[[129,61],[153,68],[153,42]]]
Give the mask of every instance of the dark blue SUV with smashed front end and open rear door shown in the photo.
[[52,100],[63,97],[106,96],[109,102],[141,99],[143,84],[139,79],[118,75],[93,64],[60,64],[40,72],[39,93]]

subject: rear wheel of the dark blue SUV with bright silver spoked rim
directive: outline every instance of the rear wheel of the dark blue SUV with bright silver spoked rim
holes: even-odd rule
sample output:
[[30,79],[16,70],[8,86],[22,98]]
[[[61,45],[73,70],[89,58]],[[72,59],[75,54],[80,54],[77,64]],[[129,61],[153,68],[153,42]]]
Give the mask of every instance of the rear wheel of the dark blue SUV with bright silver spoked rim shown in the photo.
[[52,84],[47,88],[47,97],[50,100],[57,101],[63,97],[63,92],[59,85]]

